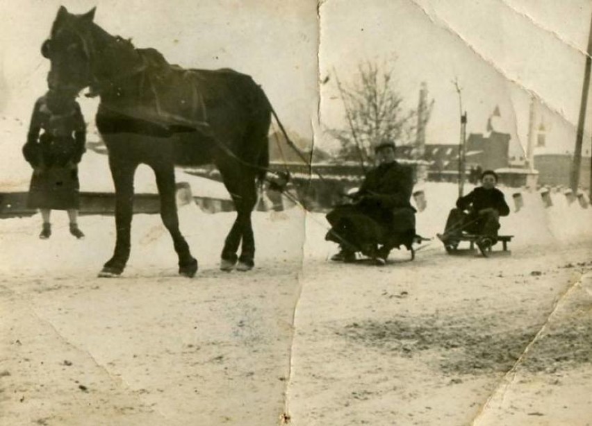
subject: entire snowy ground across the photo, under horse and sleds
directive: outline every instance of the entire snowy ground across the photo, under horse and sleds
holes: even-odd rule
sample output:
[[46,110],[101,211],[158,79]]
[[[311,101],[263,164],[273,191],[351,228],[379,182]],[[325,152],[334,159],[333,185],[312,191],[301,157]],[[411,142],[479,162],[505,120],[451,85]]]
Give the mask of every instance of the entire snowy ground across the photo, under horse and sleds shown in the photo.
[[176,276],[157,216],[135,216],[130,264],[115,280],[95,278],[113,218],[81,218],[85,241],[59,214],[48,241],[36,239],[36,216],[0,222],[10,248],[0,255],[0,424],[592,418],[592,296],[577,283],[592,244],[559,238],[559,220],[548,217],[549,229],[570,244],[521,239],[511,257],[483,259],[432,243],[414,262],[397,252],[375,268],[327,262],[320,216],[306,222],[303,252],[302,213],[258,213],[256,269],[227,274],[217,253],[233,215],[180,213],[200,261],[192,280]]

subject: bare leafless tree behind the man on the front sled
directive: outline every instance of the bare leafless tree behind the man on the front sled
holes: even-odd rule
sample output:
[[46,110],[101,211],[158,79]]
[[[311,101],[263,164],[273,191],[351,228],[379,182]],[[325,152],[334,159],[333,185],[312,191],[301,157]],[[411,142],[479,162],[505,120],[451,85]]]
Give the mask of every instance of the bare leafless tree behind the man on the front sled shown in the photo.
[[394,69],[386,64],[365,61],[358,65],[358,76],[352,85],[342,86],[336,76],[349,123],[349,128],[331,130],[331,135],[341,143],[341,159],[366,162],[378,144],[416,142],[418,123],[425,126],[433,101],[425,106],[418,120],[418,110],[404,110],[393,74]]

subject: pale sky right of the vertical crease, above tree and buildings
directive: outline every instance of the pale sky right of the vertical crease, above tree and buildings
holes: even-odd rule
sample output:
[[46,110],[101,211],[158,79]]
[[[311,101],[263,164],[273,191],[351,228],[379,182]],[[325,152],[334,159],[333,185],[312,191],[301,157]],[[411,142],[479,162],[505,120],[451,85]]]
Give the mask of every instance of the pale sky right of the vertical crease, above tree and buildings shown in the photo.
[[[537,122],[550,129],[549,151],[573,151],[584,74],[590,1],[330,0],[321,8],[321,75],[352,77],[360,60],[393,60],[398,87],[415,108],[420,83],[435,99],[428,142],[457,143],[463,88],[468,131],[483,133],[500,106],[511,150],[526,144],[529,93]],[[322,86],[322,121],[343,126],[335,84]],[[592,128],[592,109],[587,128]],[[590,140],[584,145],[587,149]],[[588,151],[589,152],[589,151]]]

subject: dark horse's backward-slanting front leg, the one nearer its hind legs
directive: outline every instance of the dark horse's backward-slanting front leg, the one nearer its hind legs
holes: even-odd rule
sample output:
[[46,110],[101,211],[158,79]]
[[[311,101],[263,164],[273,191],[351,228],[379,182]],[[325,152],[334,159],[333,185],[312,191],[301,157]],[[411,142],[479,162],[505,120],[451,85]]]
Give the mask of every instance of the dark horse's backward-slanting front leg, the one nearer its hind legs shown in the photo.
[[153,167],[156,185],[161,196],[161,218],[173,240],[174,250],[179,256],[179,274],[192,277],[197,272],[197,260],[192,257],[189,245],[179,230],[179,216],[176,212],[174,169],[172,164]]

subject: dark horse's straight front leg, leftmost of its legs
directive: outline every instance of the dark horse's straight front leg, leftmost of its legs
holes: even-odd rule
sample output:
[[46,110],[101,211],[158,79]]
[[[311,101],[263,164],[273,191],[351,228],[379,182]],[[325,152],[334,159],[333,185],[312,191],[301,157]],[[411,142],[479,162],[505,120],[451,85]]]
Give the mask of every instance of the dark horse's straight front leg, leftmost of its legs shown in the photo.
[[133,175],[138,164],[117,162],[109,158],[109,167],[113,183],[115,184],[115,229],[117,239],[115,250],[99,277],[114,277],[121,275],[131,250],[131,218],[133,214]]

